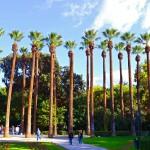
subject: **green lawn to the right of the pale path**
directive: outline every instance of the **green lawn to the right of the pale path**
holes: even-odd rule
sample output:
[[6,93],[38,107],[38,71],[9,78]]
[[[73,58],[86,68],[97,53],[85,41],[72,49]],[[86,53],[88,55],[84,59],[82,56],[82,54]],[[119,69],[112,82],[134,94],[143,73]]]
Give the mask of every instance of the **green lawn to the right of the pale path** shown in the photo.
[[83,142],[99,147],[107,148],[108,150],[135,150],[133,140],[135,137],[93,137],[85,138]]

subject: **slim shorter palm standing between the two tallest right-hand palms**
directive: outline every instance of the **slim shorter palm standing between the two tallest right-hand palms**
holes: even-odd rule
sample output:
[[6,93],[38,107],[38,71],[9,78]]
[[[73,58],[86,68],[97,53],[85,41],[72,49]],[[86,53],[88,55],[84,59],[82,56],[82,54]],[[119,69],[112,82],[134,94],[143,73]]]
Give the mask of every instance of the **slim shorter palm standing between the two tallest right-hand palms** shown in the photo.
[[107,49],[107,41],[104,40],[98,46],[102,49],[102,58],[103,58],[103,101],[104,101],[104,130],[107,131],[107,122],[106,122],[106,109],[107,109],[107,95],[106,95],[106,49]]

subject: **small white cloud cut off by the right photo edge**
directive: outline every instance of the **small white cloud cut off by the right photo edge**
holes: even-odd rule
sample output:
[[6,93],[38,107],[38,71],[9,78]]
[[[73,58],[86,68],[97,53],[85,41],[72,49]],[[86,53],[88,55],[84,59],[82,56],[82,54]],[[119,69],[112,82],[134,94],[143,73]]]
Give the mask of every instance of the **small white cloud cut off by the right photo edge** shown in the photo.
[[144,19],[142,21],[142,28],[150,31],[150,2],[145,9]]

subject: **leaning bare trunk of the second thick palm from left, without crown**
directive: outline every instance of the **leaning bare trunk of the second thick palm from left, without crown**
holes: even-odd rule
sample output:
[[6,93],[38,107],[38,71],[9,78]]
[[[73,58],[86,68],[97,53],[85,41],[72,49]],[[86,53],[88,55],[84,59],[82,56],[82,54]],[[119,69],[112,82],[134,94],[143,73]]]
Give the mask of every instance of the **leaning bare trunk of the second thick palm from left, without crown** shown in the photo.
[[32,72],[31,72],[31,80],[30,80],[30,90],[29,90],[29,97],[28,97],[28,117],[27,117],[27,130],[25,137],[31,137],[31,109],[32,109],[32,94],[33,94],[33,83],[34,83],[34,72],[35,72],[35,53],[36,53],[36,46],[32,46]]

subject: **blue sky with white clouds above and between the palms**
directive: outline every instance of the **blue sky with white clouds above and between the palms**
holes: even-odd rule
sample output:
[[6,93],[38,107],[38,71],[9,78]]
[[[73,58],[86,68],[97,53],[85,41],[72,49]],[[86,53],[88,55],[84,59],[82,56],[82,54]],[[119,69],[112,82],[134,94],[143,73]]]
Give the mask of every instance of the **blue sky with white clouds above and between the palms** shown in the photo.
[[[102,31],[114,27],[121,32],[132,31],[139,33],[150,31],[150,0],[5,0],[0,5],[0,27],[5,29],[5,35],[0,39],[1,57],[11,53],[12,40],[8,36],[17,29],[24,33],[25,38],[19,46],[30,50],[30,31],[40,31],[45,36],[50,32],[62,35],[63,40],[81,41],[84,31],[94,28],[99,31],[103,40]],[[115,40],[114,42],[117,42]],[[75,72],[82,74],[85,79],[86,57],[85,52],[75,49]],[[43,52],[49,52],[44,47]],[[107,54],[108,56],[108,54]],[[67,50],[62,46],[57,49],[59,63],[68,65]],[[135,56],[132,56],[132,72],[135,70]],[[114,82],[119,81],[119,65],[117,52],[113,52]],[[142,61],[145,56],[142,55]],[[107,85],[109,86],[109,59],[107,57]],[[128,81],[127,55],[124,52],[123,60],[124,81]],[[2,75],[1,75],[2,76]],[[0,83],[2,85],[2,83]],[[94,52],[94,84],[102,85],[102,58],[101,50]]]

